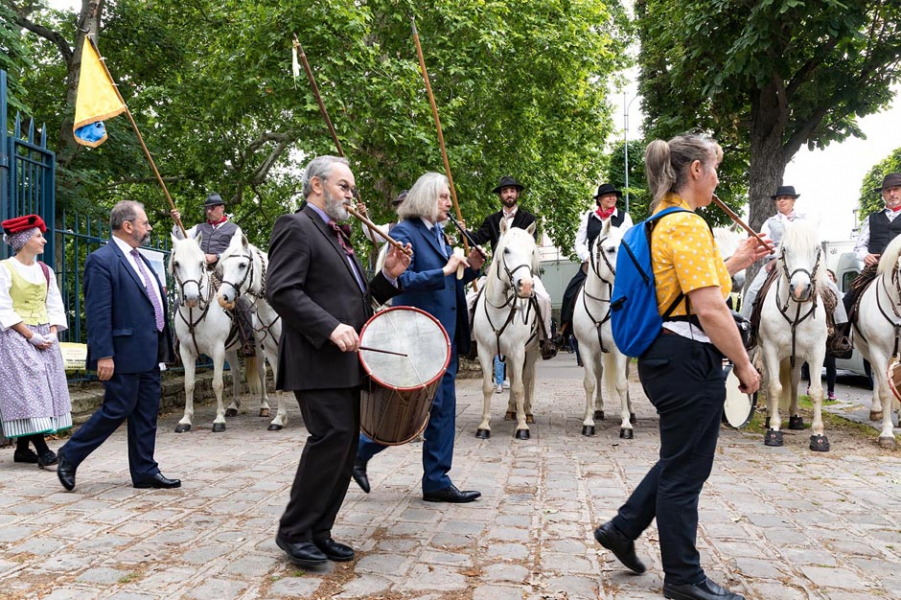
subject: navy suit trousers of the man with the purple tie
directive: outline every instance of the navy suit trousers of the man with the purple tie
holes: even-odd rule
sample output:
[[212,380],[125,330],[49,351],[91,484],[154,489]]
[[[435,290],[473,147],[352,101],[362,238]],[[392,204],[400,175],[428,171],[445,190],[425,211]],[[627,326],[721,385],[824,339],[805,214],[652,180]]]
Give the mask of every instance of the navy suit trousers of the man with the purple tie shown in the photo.
[[160,369],[118,373],[103,382],[103,404],[59,453],[78,466],[128,419],[128,469],[133,483],[160,472],[153,460],[160,411]]

